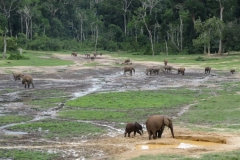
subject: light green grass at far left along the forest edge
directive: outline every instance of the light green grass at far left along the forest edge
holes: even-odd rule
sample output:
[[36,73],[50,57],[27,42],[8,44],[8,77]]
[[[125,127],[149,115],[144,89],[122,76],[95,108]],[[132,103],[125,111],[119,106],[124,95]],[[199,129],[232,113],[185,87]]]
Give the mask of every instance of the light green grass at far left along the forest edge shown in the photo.
[[[9,55],[7,55],[9,56]],[[0,61],[0,67],[13,67],[13,66],[62,66],[74,64],[72,61],[61,60],[54,57],[49,52],[34,52],[26,51],[23,54],[29,60],[8,60],[3,59]]]

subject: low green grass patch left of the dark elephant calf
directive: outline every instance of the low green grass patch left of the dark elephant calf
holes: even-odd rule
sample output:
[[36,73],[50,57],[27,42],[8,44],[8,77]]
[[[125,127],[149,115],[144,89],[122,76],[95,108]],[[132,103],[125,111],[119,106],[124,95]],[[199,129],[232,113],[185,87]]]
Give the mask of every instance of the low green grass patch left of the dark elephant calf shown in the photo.
[[[41,128],[41,130],[39,130]],[[30,122],[9,127],[13,131],[24,131],[39,133],[44,138],[74,138],[92,136],[103,133],[104,129],[90,123],[70,122],[64,120],[44,119],[42,121]],[[89,135],[90,136],[90,135]]]

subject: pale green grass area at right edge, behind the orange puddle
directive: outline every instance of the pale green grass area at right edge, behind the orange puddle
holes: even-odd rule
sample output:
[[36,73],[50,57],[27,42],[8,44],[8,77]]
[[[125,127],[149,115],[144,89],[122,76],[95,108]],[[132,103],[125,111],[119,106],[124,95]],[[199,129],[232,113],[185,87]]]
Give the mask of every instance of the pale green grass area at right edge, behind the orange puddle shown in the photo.
[[238,128],[234,125],[240,121],[239,95],[220,95],[199,102],[179,119],[192,124],[210,124],[214,127]]

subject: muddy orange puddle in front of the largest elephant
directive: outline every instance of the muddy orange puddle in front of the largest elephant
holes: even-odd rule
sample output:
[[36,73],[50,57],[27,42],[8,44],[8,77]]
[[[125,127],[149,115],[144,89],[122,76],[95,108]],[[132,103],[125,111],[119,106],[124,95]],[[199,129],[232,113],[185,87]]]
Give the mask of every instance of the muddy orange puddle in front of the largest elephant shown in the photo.
[[192,141],[184,139],[175,139],[173,144],[169,143],[147,143],[147,144],[138,144],[135,146],[136,150],[147,150],[147,149],[160,149],[160,148],[202,148],[202,147],[211,147],[211,146],[220,146],[220,143],[214,142],[204,142],[204,141]]

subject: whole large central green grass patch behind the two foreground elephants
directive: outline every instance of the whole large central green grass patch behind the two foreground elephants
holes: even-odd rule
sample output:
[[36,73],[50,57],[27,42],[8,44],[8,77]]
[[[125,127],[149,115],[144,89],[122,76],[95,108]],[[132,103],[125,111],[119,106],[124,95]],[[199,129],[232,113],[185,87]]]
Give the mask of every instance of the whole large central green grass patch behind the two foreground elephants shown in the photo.
[[[149,115],[174,115],[180,107],[206,98],[210,91],[185,88],[158,91],[129,91],[90,94],[68,101],[59,118],[111,122],[138,121]],[[94,99],[94,101],[93,101]]]

